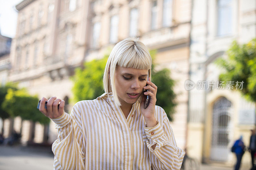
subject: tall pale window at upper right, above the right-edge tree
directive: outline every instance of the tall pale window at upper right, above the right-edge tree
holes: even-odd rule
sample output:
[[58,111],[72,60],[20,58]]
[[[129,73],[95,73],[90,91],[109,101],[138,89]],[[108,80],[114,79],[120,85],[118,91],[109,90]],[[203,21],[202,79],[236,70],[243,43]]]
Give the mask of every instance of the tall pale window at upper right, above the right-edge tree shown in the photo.
[[232,0],[218,0],[218,36],[232,33]]

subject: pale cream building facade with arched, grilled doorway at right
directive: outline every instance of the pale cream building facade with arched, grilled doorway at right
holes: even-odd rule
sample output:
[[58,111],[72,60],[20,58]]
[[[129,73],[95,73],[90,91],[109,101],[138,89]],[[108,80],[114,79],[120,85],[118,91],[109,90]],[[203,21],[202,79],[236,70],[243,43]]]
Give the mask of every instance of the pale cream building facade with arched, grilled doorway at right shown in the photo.
[[[221,70],[214,61],[227,57],[225,52],[234,40],[243,44],[255,37],[255,1],[192,1],[189,80],[195,87],[189,90],[188,155],[206,163],[233,165],[234,141],[243,135],[249,146],[250,130],[255,127],[255,104],[236,90],[220,88]],[[242,163],[250,161],[246,152]]]

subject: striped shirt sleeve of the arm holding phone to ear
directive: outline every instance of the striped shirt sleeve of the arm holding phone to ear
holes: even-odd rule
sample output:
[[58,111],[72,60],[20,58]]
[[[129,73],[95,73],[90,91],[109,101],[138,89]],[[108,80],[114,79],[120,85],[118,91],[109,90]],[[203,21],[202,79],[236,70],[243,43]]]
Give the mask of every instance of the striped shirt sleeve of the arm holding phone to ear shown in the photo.
[[[185,152],[176,145],[166,113],[162,125],[159,122],[154,127],[147,127],[145,125],[144,130],[148,139],[146,140],[146,144],[149,149],[152,167],[154,169],[179,170]],[[156,147],[153,149],[152,145],[155,144]]]

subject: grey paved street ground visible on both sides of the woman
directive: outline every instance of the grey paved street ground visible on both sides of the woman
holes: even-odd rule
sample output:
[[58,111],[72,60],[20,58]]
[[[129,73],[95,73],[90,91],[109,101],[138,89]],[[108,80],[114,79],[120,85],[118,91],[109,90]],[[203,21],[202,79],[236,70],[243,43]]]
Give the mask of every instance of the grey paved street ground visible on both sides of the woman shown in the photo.
[[[0,170],[50,170],[53,169],[54,155],[49,147],[4,146],[0,145]],[[233,170],[221,164],[200,165],[200,170]],[[240,170],[249,170],[242,165]]]

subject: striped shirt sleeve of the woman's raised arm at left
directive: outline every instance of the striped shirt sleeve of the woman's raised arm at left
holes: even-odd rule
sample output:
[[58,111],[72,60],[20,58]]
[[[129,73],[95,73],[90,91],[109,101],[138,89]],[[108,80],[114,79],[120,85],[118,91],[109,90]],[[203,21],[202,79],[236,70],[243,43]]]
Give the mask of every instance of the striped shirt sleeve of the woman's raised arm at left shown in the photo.
[[52,119],[58,130],[58,139],[52,144],[53,169],[84,169],[84,145],[81,115],[75,105],[71,114],[64,113]]

